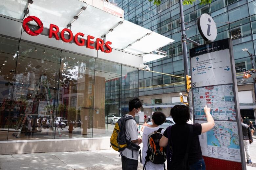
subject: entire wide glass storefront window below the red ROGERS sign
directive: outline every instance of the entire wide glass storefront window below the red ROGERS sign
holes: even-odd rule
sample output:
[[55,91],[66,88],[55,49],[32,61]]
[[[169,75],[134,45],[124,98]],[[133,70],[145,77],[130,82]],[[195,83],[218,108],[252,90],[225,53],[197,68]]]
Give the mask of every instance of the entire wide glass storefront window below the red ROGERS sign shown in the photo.
[[109,137],[139,96],[138,68],[28,42],[0,37],[0,64],[0,140]]

